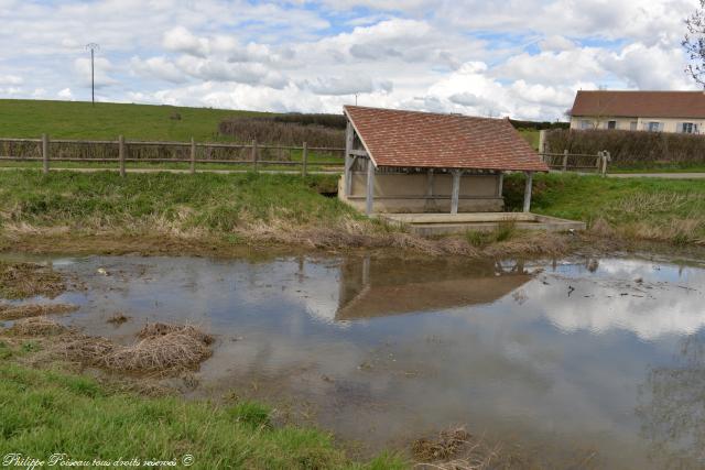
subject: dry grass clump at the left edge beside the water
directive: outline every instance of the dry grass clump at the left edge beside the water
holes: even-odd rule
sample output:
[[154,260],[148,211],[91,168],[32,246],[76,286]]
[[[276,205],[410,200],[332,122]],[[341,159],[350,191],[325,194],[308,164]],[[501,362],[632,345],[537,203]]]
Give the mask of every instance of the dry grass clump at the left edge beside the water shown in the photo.
[[26,298],[36,295],[54,298],[66,285],[61,274],[36,263],[0,262],[0,296]]

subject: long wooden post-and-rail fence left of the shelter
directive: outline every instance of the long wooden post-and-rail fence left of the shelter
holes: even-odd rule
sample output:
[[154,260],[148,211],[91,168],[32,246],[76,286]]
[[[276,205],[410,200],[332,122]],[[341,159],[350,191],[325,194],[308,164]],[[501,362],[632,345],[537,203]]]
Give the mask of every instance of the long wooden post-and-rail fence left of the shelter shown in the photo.
[[[306,175],[312,167],[340,172],[345,162],[345,149],[285,146],[239,143],[195,142],[145,142],[128,141],[122,135],[118,140],[50,140],[2,139],[0,138],[0,162],[42,162],[44,173],[48,173],[52,162],[86,164],[115,163],[124,176],[128,163],[187,163],[191,173],[196,165],[221,164],[240,165],[252,171],[274,168],[286,173],[301,172]],[[286,171],[285,168],[292,168]]]

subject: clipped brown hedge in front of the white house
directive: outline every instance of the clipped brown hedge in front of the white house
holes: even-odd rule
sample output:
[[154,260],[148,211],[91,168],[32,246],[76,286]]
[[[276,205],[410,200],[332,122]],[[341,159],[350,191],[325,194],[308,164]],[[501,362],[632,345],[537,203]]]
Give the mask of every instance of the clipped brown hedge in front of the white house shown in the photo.
[[704,164],[705,135],[617,130],[546,131],[547,152],[608,151],[612,165]]

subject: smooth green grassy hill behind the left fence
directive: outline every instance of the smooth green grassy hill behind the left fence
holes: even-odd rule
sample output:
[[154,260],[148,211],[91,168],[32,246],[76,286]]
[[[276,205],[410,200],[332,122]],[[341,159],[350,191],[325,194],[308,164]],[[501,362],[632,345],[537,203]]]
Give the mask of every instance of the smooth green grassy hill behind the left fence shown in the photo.
[[[178,114],[181,119],[172,119]],[[111,102],[40,101],[0,99],[0,136],[54,139],[115,139],[196,141],[228,140],[217,133],[221,119],[231,116],[265,116],[174,106],[122,105]]]

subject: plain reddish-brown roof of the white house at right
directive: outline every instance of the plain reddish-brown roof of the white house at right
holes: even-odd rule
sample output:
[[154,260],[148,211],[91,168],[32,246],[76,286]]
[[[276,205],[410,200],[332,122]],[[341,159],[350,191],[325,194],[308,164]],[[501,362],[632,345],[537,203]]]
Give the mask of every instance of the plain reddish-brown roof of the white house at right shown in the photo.
[[571,116],[705,119],[705,92],[581,90]]

